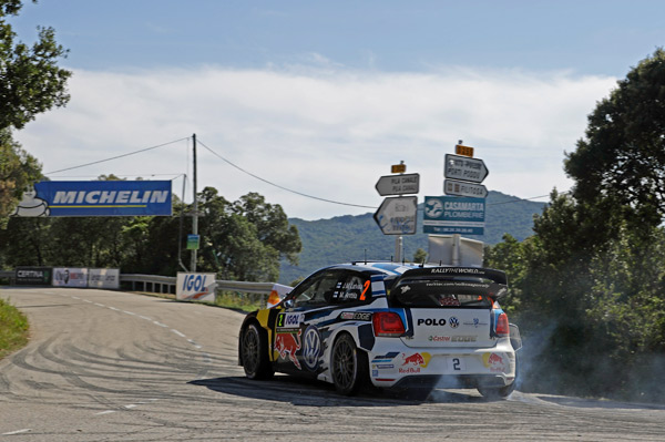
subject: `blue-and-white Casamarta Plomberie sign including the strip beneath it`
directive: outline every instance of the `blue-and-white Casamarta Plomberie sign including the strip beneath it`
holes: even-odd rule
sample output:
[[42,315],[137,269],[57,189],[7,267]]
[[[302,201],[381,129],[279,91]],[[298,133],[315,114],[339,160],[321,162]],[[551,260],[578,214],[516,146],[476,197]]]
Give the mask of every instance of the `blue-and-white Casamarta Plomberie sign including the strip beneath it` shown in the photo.
[[426,196],[422,232],[426,234],[484,233],[484,198]]

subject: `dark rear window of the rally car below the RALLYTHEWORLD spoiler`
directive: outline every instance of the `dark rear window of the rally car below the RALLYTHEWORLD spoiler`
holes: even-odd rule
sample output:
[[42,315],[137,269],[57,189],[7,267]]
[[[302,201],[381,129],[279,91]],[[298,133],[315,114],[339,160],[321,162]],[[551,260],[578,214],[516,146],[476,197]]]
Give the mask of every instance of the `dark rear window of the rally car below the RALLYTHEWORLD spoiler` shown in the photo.
[[391,307],[490,309],[502,289],[504,286],[478,278],[402,279],[390,289],[388,299]]

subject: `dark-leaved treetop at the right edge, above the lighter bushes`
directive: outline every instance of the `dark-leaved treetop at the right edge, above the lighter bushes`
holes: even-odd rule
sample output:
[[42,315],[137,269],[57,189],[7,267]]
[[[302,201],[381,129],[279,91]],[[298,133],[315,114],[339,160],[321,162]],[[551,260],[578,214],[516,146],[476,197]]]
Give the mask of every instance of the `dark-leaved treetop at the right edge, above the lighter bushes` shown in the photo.
[[565,172],[583,203],[612,198],[632,220],[665,216],[665,51],[641,61],[589,116],[586,137],[566,154]]

